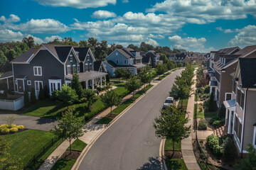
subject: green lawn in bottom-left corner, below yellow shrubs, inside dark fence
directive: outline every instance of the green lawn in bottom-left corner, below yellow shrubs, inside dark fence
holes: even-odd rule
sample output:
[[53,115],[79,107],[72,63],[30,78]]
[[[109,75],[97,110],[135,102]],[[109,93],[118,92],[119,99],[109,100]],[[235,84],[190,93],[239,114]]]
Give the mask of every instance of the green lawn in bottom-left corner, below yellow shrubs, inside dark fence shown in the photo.
[[24,130],[23,132],[0,137],[10,142],[10,148],[7,152],[11,154],[11,157],[21,158],[21,166],[24,166],[54,135],[51,132],[40,130]]

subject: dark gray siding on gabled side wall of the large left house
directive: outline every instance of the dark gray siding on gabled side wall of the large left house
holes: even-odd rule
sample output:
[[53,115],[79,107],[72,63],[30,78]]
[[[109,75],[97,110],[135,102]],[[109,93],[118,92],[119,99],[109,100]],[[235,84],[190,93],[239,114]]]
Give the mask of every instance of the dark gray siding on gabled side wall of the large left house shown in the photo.
[[[48,79],[50,77],[59,77],[64,84],[64,67],[48,50],[41,50],[31,60],[30,64],[13,64],[14,67],[14,80],[18,75],[26,75],[26,81],[24,81],[25,89],[31,91],[31,87],[35,88],[35,81],[43,81],[43,86],[48,86]],[[33,67],[42,67],[42,76],[34,76]],[[54,72],[53,72],[54,69]],[[31,85],[27,85],[27,80],[31,81]],[[15,84],[15,82],[14,82]],[[15,90],[16,84],[15,84]]]

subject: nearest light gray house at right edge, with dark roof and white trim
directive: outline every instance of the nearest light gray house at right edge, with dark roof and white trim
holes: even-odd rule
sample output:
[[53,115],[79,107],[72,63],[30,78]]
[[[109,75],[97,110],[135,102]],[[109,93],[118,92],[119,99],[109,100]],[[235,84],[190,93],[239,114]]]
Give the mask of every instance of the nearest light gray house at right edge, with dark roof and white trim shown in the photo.
[[232,98],[224,101],[228,134],[232,134],[239,153],[251,143],[256,148],[256,54],[239,58],[233,79]]

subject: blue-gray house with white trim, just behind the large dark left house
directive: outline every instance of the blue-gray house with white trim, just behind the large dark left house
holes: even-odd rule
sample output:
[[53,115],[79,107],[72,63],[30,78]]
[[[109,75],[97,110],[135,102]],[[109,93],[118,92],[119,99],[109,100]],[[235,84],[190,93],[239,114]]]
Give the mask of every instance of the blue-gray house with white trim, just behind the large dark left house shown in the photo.
[[133,75],[137,74],[137,69],[144,69],[146,64],[142,64],[140,52],[131,48],[122,48],[114,50],[104,61],[105,68],[111,77],[114,77],[114,69],[129,69]]

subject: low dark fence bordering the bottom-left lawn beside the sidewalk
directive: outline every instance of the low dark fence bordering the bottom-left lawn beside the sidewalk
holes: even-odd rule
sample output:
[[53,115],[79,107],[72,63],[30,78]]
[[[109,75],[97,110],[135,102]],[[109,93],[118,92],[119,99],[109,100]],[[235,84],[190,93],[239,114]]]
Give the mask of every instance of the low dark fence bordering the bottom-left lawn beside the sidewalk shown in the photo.
[[52,147],[55,142],[60,140],[58,136],[53,137],[46,145],[44,145],[36,154],[33,155],[33,157],[28,161],[28,163],[23,167],[23,169],[38,169],[41,164],[45,161],[44,159],[41,159],[43,154],[46,154],[48,149]]

